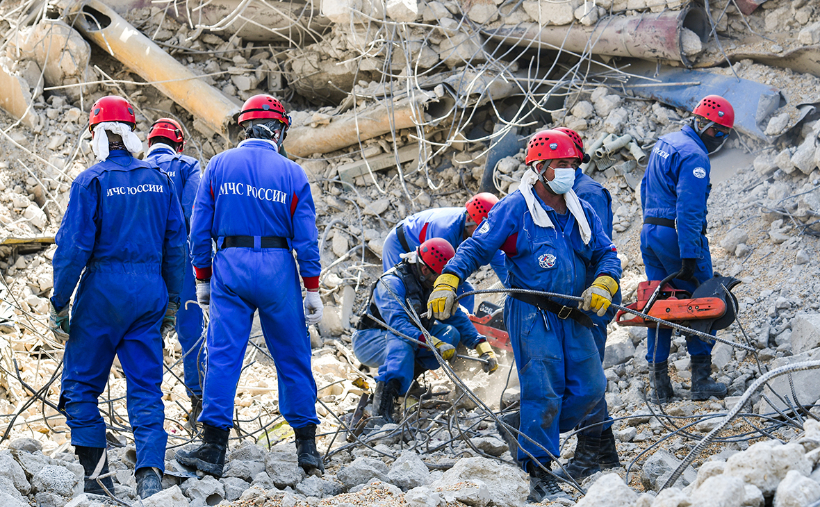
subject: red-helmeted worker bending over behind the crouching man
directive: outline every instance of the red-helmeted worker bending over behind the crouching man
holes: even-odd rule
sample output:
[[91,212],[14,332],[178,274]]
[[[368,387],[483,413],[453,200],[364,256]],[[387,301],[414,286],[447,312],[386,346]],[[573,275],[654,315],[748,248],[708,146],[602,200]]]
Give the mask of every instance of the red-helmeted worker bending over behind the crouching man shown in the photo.
[[[463,208],[433,208],[420,211],[396,224],[385,238],[381,251],[382,269],[387,271],[402,261],[401,255],[415,251],[421,243],[430,238],[444,238],[458,248],[469,238],[481,221],[487,218],[490,209],[499,201],[490,192],[477,193],[471,197]],[[504,268],[504,254],[495,252],[490,266],[502,283],[507,280],[507,269]],[[458,286],[458,295],[476,290],[471,283],[464,281]],[[476,307],[476,297],[467,296],[458,300],[458,304],[472,313]]]

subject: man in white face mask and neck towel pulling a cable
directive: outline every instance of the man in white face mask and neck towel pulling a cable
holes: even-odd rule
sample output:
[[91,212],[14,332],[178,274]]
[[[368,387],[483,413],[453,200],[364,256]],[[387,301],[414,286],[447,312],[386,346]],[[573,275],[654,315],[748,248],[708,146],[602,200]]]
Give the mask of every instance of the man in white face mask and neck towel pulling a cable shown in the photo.
[[[436,279],[429,300],[436,319],[453,314],[459,281],[499,248],[507,255],[513,288],[583,297],[584,310],[604,315],[617,292],[621,262],[592,207],[572,191],[581,157],[563,132],[544,130],[531,138],[531,170],[519,188],[493,207]],[[590,287],[588,271],[596,277]],[[530,473],[530,500],[566,498],[546,470],[560,455],[559,432],[574,428],[604,396],[592,323],[573,301],[520,292],[507,298],[504,323],[521,384],[520,429],[537,443],[518,438],[517,459]]]

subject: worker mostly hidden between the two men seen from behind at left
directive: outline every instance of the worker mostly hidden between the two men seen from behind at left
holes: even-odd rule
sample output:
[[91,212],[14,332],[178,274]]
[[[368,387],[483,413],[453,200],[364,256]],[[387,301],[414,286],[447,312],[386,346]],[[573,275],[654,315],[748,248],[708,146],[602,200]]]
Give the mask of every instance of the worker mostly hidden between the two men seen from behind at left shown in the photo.
[[[193,156],[183,155],[185,134],[182,126],[171,118],[160,118],[148,130],[148,156],[146,159],[158,165],[174,182],[176,197],[180,200],[185,213],[185,232],[190,232],[191,211],[194,209],[194,198],[197,196],[199,180],[202,179],[199,161]],[[185,243],[185,258],[189,259],[188,243]],[[185,387],[191,400],[191,411],[188,421],[196,425],[199,412],[203,407],[202,380],[205,364],[203,350],[203,310],[198,305],[186,305],[187,301],[196,301],[197,289],[194,283],[194,266],[185,263],[183,269],[180,309],[176,319],[166,319],[163,331],[166,333],[175,328],[176,337],[182,346],[183,373]],[[165,333],[163,333],[165,334]]]

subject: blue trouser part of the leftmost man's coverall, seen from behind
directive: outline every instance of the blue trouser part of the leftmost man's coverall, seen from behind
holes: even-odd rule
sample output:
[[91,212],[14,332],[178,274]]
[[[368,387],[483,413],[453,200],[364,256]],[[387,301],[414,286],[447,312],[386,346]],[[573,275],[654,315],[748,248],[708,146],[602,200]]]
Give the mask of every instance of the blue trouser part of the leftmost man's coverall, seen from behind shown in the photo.
[[163,428],[165,407],[160,391],[160,327],[168,292],[159,265],[130,266],[134,267],[155,273],[86,270],[80,280],[72,308],[71,337],[63,355],[60,407],[66,412],[72,445],[107,446],[98,397],[103,394],[116,355],[125,373],[136,468],[165,470],[168,435]]

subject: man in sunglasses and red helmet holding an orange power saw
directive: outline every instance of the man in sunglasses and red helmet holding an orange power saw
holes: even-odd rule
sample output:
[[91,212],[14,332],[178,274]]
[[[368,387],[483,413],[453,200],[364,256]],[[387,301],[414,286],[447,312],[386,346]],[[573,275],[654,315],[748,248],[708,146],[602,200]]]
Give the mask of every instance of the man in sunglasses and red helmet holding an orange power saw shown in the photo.
[[[712,256],[706,238],[706,201],[709,183],[709,154],[726,142],[735,123],[731,104],[718,95],[704,97],[692,111],[689,124],[658,139],[649,155],[640,201],[644,226],[640,231],[640,253],[649,280],[677,274],[672,286],[692,292],[712,278]],[[667,370],[672,329],[655,332],[648,328],[646,360],[649,362],[651,398],[665,403],[672,396]],[[686,337],[692,365],[693,400],[722,398],[727,386],[711,378],[713,343]]]

